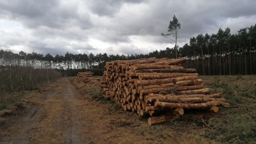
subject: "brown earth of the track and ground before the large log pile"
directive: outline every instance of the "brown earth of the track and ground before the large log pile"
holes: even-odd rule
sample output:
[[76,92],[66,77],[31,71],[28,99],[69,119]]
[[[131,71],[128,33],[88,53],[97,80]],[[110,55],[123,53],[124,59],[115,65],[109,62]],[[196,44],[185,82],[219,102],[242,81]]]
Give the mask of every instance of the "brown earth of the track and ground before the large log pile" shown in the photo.
[[[91,85],[91,91],[98,85]],[[147,118],[95,101],[76,78],[63,77],[2,110],[0,144],[214,144],[202,121],[148,126]]]

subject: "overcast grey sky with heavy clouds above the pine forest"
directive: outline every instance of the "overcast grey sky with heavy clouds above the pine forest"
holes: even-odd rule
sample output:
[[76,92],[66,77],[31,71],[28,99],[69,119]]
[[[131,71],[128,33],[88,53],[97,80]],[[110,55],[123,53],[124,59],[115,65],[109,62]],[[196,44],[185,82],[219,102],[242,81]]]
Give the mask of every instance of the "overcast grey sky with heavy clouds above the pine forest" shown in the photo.
[[231,34],[256,24],[256,0],[0,0],[2,47],[55,56],[69,52],[141,54],[174,47],[172,17],[181,24],[178,45],[198,34]]

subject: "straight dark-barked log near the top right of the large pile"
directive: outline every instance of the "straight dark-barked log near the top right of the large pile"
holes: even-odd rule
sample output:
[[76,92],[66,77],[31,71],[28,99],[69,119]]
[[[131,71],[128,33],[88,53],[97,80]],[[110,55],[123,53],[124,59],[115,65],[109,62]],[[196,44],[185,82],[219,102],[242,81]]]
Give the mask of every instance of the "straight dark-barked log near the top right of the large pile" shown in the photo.
[[138,69],[135,73],[196,73],[196,69]]

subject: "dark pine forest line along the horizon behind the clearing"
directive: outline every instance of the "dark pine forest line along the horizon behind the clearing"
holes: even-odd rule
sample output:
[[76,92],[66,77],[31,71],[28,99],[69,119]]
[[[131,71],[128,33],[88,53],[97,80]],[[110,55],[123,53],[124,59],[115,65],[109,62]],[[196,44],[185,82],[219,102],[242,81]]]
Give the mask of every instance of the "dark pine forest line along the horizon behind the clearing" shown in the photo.
[[[198,34],[190,38],[190,42],[178,47],[178,58],[185,57],[182,66],[197,69],[200,75],[248,75],[256,74],[256,24],[238,30],[238,34],[230,34],[230,28],[218,30],[217,34]],[[0,59],[3,53],[0,51]],[[107,55],[107,53],[72,54],[52,56],[38,53],[12,53],[18,65],[35,69],[58,69],[62,76],[75,76],[80,71],[92,71],[94,75],[102,75],[106,61],[130,60],[157,57],[176,57],[176,49],[167,47],[164,50],[135,55]]]

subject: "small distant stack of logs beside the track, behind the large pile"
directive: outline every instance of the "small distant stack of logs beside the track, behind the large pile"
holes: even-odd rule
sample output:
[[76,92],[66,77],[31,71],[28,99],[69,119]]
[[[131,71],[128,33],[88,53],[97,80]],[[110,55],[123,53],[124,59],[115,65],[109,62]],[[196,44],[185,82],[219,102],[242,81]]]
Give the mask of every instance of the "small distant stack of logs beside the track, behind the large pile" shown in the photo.
[[78,72],[78,74],[76,75],[78,77],[78,83],[95,83],[97,81],[100,81],[100,78],[93,78],[90,71]]

